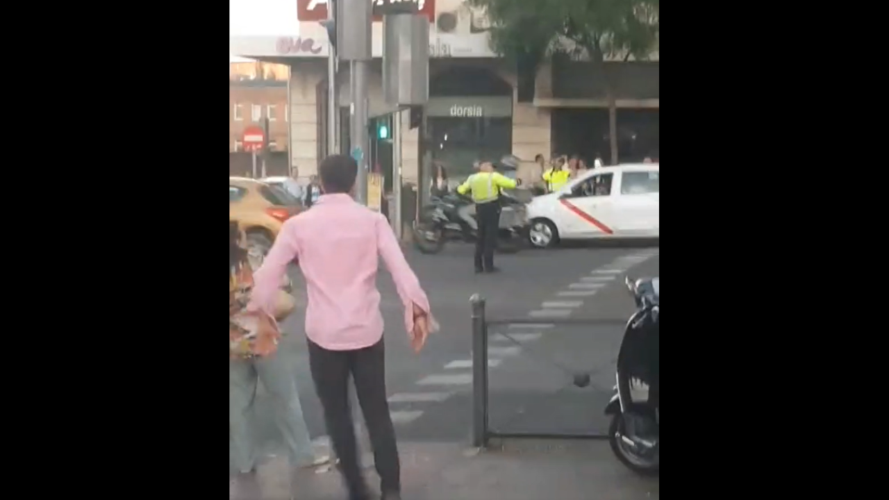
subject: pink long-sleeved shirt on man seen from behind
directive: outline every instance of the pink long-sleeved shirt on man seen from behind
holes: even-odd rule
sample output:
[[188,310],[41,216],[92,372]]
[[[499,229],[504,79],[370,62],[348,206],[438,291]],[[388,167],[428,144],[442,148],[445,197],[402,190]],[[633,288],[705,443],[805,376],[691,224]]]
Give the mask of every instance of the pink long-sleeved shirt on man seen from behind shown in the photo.
[[429,311],[426,293],[404,260],[386,217],[345,194],[323,195],[311,209],[284,222],[265,261],[253,275],[248,310],[274,316],[287,264],[299,262],[306,278],[306,335],[331,351],[362,349],[380,341],[383,317],[376,287],[379,256],[404,303],[404,327],[413,330],[413,304]]

